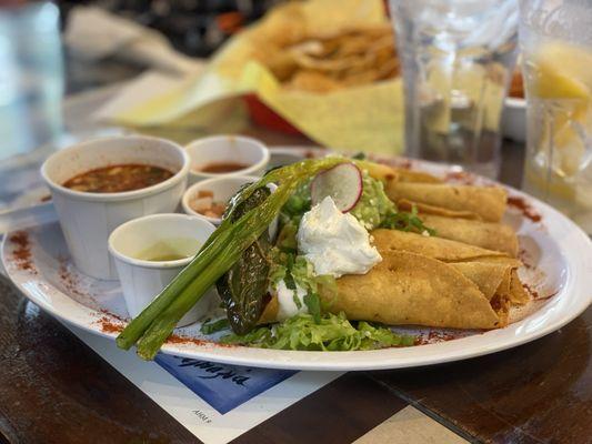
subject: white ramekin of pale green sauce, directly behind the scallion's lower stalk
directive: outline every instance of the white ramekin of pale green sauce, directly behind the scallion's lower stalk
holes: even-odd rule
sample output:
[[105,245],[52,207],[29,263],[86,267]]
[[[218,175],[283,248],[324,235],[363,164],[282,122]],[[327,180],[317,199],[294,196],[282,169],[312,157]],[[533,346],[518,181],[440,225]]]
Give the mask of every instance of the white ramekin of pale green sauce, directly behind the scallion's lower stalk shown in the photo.
[[[187,214],[153,214],[134,219],[118,226],[109,236],[109,252],[114,259],[121,290],[130,316],[144,310],[192,258],[177,261],[146,261],[139,254],[159,242],[171,239],[194,239],[198,245],[184,244],[184,253],[195,254],[214,232],[210,222]],[[191,251],[189,251],[191,250]],[[189,325],[208,313],[219,302],[218,293],[210,289],[179,321],[178,326]]]

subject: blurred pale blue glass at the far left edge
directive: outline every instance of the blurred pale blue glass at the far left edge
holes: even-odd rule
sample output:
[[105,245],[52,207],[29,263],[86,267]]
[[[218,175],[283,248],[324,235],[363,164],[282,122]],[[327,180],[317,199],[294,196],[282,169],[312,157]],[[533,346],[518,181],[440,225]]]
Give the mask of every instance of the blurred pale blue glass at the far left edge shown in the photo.
[[12,3],[0,6],[0,160],[52,142],[62,129],[58,8]]

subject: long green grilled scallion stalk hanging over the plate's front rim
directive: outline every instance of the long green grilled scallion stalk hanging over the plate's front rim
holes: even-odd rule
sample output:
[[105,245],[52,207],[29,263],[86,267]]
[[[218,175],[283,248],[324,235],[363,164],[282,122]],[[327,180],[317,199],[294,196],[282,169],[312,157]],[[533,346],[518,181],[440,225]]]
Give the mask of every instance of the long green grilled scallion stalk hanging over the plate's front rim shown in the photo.
[[137,343],[141,357],[153,359],[179,320],[268,229],[297,186],[318,172],[345,161],[342,158],[305,160],[273,170],[241,191],[231,203],[234,209],[254,190],[272,182],[278,184],[271,195],[240,219],[233,220],[230,213],[191,263],[121,332],[118,345],[128,350]]

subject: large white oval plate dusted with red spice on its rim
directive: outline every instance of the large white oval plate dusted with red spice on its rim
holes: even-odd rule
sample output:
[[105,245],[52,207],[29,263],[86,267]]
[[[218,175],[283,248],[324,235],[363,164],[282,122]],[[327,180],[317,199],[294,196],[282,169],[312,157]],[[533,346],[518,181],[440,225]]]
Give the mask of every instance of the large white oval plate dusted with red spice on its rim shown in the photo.
[[[414,162],[414,165],[437,174],[450,172],[425,162]],[[486,182],[482,179],[478,181]],[[542,218],[541,222],[533,222],[516,209],[510,209],[506,214],[506,222],[519,233],[525,262],[536,266],[521,269],[521,278],[540,296],[554,295],[538,302],[534,312],[505,329],[463,334],[434,329],[430,335],[433,343],[405,349],[293,352],[199,343],[199,327],[193,325],[179,329],[175,334],[197,341],[178,337],[167,343],[162,351],[263,367],[377,370],[463,360],[514,347],[551,333],[582,313],[592,300],[592,243],[573,222],[549,205],[516,190],[510,189],[510,193],[521,196]],[[92,333],[114,339],[117,332],[110,331],[110,327],[112,323],[121,323],[114,316],[127,316],[119,284],[100,282],[78,273],[70,263],[58,224],[37,226],[22,235],[28,238],[29,249],[23,245],[22,239],[18,242],[19,236],[14,233],[7,235],[2,245],[2,260],[17,286],[50,314]],[[24,260],[28,252],[29,261]],[[28,264],[30,268],[23,266]],[[430,329],[421,332],[427,335]],[[443,341],[450,337],[459,339]]]

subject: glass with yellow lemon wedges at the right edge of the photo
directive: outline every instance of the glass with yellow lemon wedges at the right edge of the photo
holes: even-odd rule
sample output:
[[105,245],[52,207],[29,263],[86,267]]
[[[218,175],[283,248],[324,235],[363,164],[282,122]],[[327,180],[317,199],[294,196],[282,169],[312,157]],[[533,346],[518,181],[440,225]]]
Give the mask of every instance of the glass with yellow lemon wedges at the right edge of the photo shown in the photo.
[[592,233],[592,3],[521,0],[526,192]]

